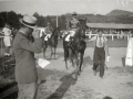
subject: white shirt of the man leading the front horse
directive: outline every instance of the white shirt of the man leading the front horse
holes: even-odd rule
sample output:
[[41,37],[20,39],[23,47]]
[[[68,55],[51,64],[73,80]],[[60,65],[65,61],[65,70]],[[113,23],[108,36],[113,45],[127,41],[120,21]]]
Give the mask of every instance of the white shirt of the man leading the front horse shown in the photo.
[[106,42],[108,40],[106,40],[106,37],[104,35],[101,36],[102,46],[99,45],[100,37],[98,35],[93,36],[90,41],[94,41],[94,44],[96,43],[95,46],[103,47],[104,46],[104,42]]

